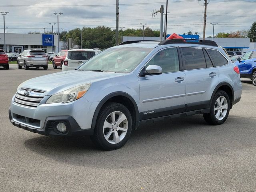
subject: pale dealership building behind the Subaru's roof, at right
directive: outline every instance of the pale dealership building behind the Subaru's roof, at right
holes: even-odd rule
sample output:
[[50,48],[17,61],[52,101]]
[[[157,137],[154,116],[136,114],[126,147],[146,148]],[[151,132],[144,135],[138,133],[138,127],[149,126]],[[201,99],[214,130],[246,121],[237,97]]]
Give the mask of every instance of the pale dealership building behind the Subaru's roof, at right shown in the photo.
[[[142,37],[124,36],[122,39],[123,39],[123,42],[125,42],[125,41],[142,40]],[[199,38],[199,39],[202,39],[202,38]],[[205,38],[205,39],[212,40],[212,38]],[[159,40],[159,37],[144,37],[144,40]],[[224,47],[227,51],[241,51],[242,53],[244,53],[248,51],[250,48],[250,38],[214,38],[214,41],[219,46]]]

